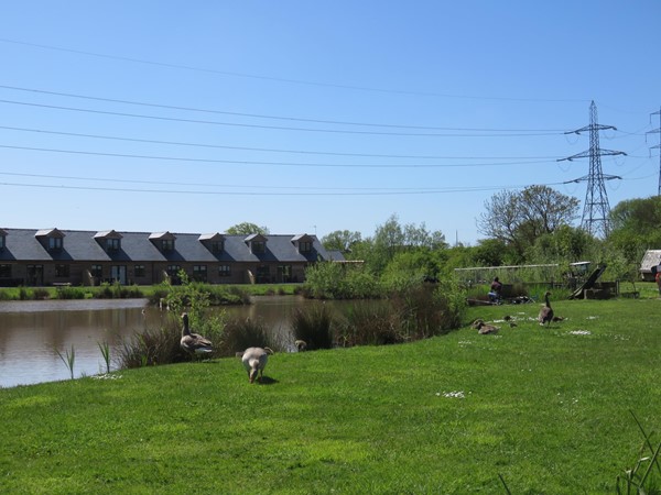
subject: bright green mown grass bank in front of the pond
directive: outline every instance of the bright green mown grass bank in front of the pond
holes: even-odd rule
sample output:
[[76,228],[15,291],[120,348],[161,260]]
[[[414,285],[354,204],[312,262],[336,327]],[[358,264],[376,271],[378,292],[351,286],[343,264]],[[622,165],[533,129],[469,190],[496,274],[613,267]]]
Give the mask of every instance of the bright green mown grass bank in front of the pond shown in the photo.
[[278,353],[263,385],[220,359],[0,389],[0,493],[614,493],[630,410],[660,428],[659,300],[552,304],[550,328],[481,307],[443,337]]

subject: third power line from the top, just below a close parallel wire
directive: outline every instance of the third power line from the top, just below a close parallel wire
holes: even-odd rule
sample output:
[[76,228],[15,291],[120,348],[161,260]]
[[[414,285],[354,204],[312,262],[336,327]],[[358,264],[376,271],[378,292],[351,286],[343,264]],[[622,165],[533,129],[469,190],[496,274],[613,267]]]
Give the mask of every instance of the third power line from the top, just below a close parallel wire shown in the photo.
[[109,110],[91,110],[86,108],[77,107],[64,107],[58,105],[45,105],[45,103],[32,103],[29,101],[17,101],[17,100],[2,100],[0,103],[9,105],[21,105],[25,107],[37,107],[47,108],[51,110],[65,110],[71,112],[83,112],[83,113],[96,113],[102,116],[112,117],[128,117],[131,119],[149,119],[160,120],[166,122],[185,122],[185,123],[197,123],[205,125],[223,125],[232,128],[245,128],[245,129],[269,129],[275,131],[295,131],[295,132],[326,132],[332,134],[362,134],[362,135],[387,135],[387,136],[410,136],[410,138],[522,138],[522,136],[541,136],[541,135],[555,135],[556,132],[552,133],[511,133],[511,134],[440,134],[440,133],[421,133],[421,132],[379,132],[379,131],[347,131],[342,129],[311,129],[311,128],[286,128],[282,125],[263,125],[263,124],[249,124],[238,122],[219,122],[215,120],[199,120],[199,119],[182,119],[177,117],[161,117],[161,116],[145,116],[143,113],[128,113],[128,112],[113,112]]

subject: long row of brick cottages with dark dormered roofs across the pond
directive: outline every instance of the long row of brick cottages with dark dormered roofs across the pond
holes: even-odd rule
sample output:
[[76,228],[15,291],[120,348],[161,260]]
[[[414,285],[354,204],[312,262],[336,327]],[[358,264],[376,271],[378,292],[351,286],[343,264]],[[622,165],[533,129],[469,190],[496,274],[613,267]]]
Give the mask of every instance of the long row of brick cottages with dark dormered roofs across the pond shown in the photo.
[[0,286],[304,282],[305,267],[339,261],[316,235],[0,229]]

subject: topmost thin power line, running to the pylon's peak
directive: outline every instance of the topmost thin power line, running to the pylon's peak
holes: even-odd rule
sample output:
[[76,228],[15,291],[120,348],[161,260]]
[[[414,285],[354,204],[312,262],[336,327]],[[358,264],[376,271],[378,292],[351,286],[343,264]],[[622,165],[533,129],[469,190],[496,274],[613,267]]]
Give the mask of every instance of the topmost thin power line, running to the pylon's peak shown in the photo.
[[182,65],[182,64],[171,64],[171,63],[163,63],[163,62],[145,61],[145,59],[141,59],[141,58],[132,58],[132,57],[124,57],[124,56],[118,56],[118,55],[108,55],[108,54],[100,54],[100,53],[95,53],[95,52],[87,52],[87,51],[83,51],[83,50],[73,50],[73,48],[64,48],[61,46],[29,43],[29,42],[22,42],[22,41],[10,40],[10,38],[4,38],[4,37],[0,37],[0,42],[11,43],[11,44],[15,44],[15,45],[31,46],[31,47],[41,48],[41,50],[51,50],[51,51],[57,51],[57,52],[73,53],[73,54],[77,54],[77,55],[85,55],[85,56],[91,56],[91,57],[97,57],[97,58],[107,58],[107,59],[112,59],[112,61],[130,62],[133,64],[151,65],[151,66],[155,66],[155,67],[165,67],[165,68],[174,68],[174,69],[182,69],[182,70],[193,70],[193,72],[198,72],[198,73],[217,74],[217,75],[221,75],[221,76],[241,77],[241,78],[250,78],[250,79],[259,79],[259,80],[270,80],[270,81],[275,81],[275,82],[286,82],[286,84],[294,84],[294,85],[350,89],[350,90],[357,90],[357,91],[370,91],[370,92],[381,92],[381,94],[391,94],[391,95],[424,96],[424,97],[441,97],[441,98],[462,98],[462,99],[474,99],[474,100],[498,100],[498,101],[531,101],[531,102],[532,101],[538,101],[538,102],[585,102],[585,101],[587,101],[586,99],[509,98],[509,97],[449,95],[449,94],[441,94],[441,92],[432,92],[432,91],[411,91],[411,90],[373,88],[373,87],[366,87],[366,86],[342,85],[342,84],[333,84],[333,82],[318,82],[318,81],[310,81],[310,80],[302,80],[302,79],[288,79],[288,78],[281,78],[281,77],[235,73],[235,72],[229,72],[229,70],[217,70],[217,69],[194,67],[194,66]]

